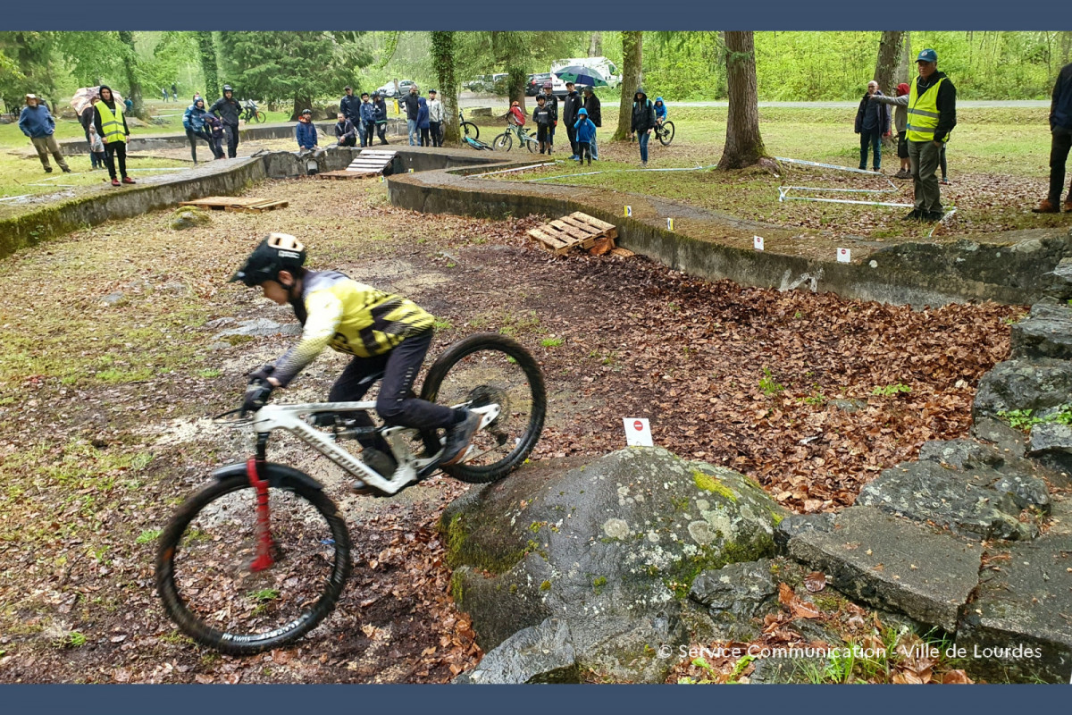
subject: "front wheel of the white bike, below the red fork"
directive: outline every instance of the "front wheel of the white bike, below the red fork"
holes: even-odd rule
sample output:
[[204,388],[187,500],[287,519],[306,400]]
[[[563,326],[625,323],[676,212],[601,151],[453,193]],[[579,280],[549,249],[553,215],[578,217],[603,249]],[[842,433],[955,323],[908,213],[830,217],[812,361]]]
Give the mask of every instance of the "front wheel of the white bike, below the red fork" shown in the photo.
[[291,643],[334,609],[349,576],[346,522],[312,478],[268,464],[269,549],[244,464],[191,496],[161,535],[157,591],[187,636],[221,653],[250,655]]

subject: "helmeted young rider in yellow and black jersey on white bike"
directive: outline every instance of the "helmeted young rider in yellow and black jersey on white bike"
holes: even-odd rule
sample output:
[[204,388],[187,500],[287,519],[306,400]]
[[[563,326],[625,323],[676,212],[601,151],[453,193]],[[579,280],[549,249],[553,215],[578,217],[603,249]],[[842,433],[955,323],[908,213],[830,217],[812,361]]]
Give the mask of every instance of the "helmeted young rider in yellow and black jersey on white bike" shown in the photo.
[[[434,319],[411,300],[358,283],[334,270],[304,268],[306,248],[294,236],[269,234],[232,277],[249,287],[260,286],[276,303],[289,303],[302,324],[301,340],[276,362],[251,374],[242,402],[247,412],[259,409],[272,391],[286,387],[317,355],[330,346],[354,356],[331,386],[330,402],[360,400],[371,386],[366,378],[383,372],[376,412],[392,426],[447,430],[440,464],[456,464],[465,456],[480,424],[480,415],[414,397],[413,383],[432,343]],[[356,413],[359,427],[373,426],[367,413]],[[361,458],[375,472],[390,477],[397,468],[386,441],[360,436]],[[354,488],[367,489],[357,480]]]

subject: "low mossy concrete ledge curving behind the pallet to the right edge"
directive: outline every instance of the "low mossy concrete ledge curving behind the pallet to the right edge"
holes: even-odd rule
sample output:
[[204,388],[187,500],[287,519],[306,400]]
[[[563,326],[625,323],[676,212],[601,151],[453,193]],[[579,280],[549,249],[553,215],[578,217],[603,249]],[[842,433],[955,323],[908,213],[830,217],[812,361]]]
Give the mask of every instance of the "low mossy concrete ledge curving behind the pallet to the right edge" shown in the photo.
[[[392,177],[388,189],[391,203],[428,213],[495,219],[584,211],[614,223],[619,227],[620,245],[675,270],[711,280],[730,279],[745,285],[783,291],[803,286],[846,298],[913,307],[983,300],[1027,304],[1043,295],[1046,287],[1043,277],[1061,257],[1072,255],[1072,232],[1066,237],[1032,239],[1012,250],[1006,249],[1004,259],[1001,259],[1002,247],[994,247],[993,260],[985,265],[964,258],[980,253],[978,244],[967,241],[959,248],[917,244],[926,254],[926,259],[908,258],[912,255],[911,248],[903,244],[851,264],[759,252],[726,245],[717,242],[717,238],[708,240],[681,230],[667,230],[666,217],[686,218],[689,226],[698,226],[701,234],[732,238],[738,243],[743,237],[750,243],[753,233],[758,230],[770,236],[770,226],[639,194],[579,187],[570,187],[565,192],[548,184],[467,178],[465,174],[472,172],[450,168],[457,161],[455,153],[440,160],[438,169]],[[481,158],[488,170],[532,163],[496,164],[493,162],[501,157],[490,152],[471,152],[470,155]],[[408,161],[419,162],[423,167],[436,160],[428,157]],[[477,161],[474,159],[471,163]],[[621,213],[626,203],[632,206],[632,218],[624,218]],[[995,262],[1003,270],[996,270]]]

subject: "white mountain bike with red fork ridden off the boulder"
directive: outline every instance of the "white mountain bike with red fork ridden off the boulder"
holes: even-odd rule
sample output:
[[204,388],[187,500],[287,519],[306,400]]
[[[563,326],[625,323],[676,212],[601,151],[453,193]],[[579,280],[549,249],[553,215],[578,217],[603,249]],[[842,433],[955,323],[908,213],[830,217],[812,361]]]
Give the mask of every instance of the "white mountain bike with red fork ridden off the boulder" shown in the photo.
[[[219,415],[254,437],[253,456],[217,470],[160,537],[157,591],[179,629],[222,653],[259,653],[315,628],[342,595],[351,572],[345,519],[324,485],[268,461],[273,431],[292,433],[376,495],[388,496],[437,468],[472,483],[502,479],[525,461],[547,413],[536,360],[498,333],[474,334],[448,347],[429,369],[420,397],[481,416],[463,461],[440,466],[440,431],[360,427],[355,415],[374,413],[374,401],[268,404],[252,417],[240,409]],[[393,453],[392,474],[377,473],[340,444],[375,434]]]

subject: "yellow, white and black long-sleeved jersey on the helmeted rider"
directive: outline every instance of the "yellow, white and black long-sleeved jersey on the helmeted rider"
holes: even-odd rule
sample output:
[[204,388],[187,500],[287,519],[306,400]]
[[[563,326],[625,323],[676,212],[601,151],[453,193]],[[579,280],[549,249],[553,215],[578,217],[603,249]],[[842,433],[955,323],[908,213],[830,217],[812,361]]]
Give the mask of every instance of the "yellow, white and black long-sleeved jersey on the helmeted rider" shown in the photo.
[[402,296],[358,283],[339,271],[307,271],[301,298],[292,301],[301,340],[276,361],[272,376],[286,386],[327,347],[357,357],[390,352],[435,322]]

